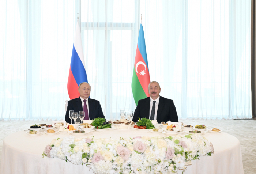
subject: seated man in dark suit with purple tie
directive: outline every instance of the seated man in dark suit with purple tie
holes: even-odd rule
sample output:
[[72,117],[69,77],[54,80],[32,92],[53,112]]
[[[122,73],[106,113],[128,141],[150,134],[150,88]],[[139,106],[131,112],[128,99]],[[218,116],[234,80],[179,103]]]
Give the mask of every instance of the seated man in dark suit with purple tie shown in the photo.
[[[91,86],[87,82],[83,82],[79,84],[78,92],[80,93],[80,97],[69,100],[67,112],[65,116],[65,121],[70,123],[71,120],[69,118],[69,111],[74,110],[79,114],[79,111],[85,112],[84,120],[93,120],[94,118],[104,117],[104,114],[101,109],[101,104],[99,101],[95,99],[89,98],[91,93]],[[80,119],[76,119],[76,122],[79,122]],[[72,120],[74,123],[74,120]]]

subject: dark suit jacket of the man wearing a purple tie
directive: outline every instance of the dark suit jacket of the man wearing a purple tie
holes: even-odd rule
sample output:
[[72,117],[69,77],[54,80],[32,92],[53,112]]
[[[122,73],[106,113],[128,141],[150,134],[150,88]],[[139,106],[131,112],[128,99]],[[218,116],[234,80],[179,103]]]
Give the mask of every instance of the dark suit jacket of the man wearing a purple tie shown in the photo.
[[[88,109],[89,109],[90,120],[93,120],[94,118],[98,118],[98,117],[105,118],[101,109],[101,104],[99,103],[98,100],[88,98],[88,107],[89,107]],[[65,116],[65,121],[68,123],[71,122],[68,116],[70,110],[74,110],[74,112],[77,112],[77,113],[79,113],[79,111],[83,111],[82,101],[80,97],[68,101],[68,107],[67,107],[66,116]],[[76,119],[76,122],[78,122],[79,120],[80,119],[78,117],[78,119]],[[72,123],[74,123],[74,120],[72,120]]]

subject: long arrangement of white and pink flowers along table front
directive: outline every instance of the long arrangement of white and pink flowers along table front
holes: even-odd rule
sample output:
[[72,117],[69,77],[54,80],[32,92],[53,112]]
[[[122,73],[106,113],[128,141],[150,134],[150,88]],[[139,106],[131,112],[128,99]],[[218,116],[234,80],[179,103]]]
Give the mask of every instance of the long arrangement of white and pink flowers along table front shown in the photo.
[[212,143],[201,135],[94,139],[53,139],[43,157],[86,164],[96,174],[177,173],[192,160],[211,155]]

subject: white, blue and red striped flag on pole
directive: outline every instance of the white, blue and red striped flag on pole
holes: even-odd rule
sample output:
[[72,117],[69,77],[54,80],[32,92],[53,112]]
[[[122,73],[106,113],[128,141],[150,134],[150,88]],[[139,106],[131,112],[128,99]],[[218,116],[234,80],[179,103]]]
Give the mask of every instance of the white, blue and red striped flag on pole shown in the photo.
[[78,98],[80,96],[78,92],[78,87],[79,84],[82,82],[88,82],[88,80],[84,66],[83,46],[80,27],[77,19],[76,33],[74,38],[74,45],[68,75],[68,95],[71,100],[74,98]]

